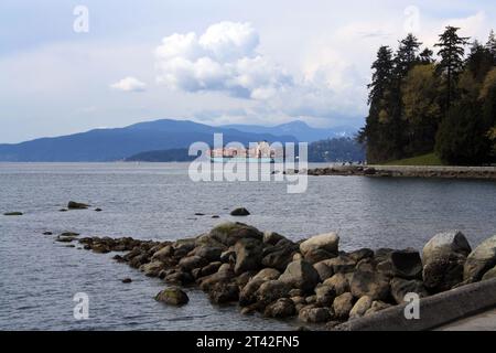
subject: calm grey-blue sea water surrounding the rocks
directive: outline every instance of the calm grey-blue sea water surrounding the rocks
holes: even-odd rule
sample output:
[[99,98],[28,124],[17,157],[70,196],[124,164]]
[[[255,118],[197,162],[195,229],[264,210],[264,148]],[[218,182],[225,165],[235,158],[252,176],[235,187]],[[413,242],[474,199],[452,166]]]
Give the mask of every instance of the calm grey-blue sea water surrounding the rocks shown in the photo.
[[[58,212],[69,200],[104,212]],[[239,205],[252,214],[244,222],[292,239],[337,231],[344,249],[421,248],[436,232],[454,228],[475,246],[496,234],[494,182],[314,176],[306,193],[288,194],[284,183],[193,183],[187,164],[0,163],[0,329],[293,328],[212,306],[197,290],[188,290],[187,306],[165,307],[153,300],[164,287],[159,279],[112,261],[112,254],[68,248],[42,235],[176,239],[231,221],[228,213]],[[1,215],[10,211],[24,215]],[[125,277],[133,282],[121,284]],[[88,320],[73,318],[76,292],[89,296]]]

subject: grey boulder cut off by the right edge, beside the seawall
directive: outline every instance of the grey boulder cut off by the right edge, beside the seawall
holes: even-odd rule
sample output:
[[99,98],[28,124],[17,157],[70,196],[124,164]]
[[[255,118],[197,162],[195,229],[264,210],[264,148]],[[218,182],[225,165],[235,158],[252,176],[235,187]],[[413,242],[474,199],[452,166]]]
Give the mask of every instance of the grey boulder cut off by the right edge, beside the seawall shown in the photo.
[[463,279],[466,282],[481,280],[485,272],[496,266],[496,235],[484,240],[466,258]]

